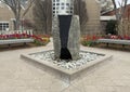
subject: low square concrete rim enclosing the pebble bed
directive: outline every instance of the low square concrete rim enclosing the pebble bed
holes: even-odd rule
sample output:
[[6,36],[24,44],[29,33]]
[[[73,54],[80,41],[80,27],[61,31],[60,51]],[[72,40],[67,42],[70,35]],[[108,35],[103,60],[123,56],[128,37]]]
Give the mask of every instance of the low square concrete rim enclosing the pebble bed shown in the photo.
[[[41,53],[41,52],[39,52]],[[93,52],[91,52],[93,53]],[[112,55],[100,54],[102,57],[96,58],[92,62],[84,64],[83,66],[76,68],[76,69],[65,69],[58,66],[55,66],[53,63],[36,60],[29,54],[22,54],[21,57],[25,60],[27,63],[32,64],[34,66],[43,69],[44,71],[56,76],[57,78],[62,78],[62,80],[67,80],[67,82],[75,80],[78,77],[83,76],[83,74],[88,73],[90,69],[98,67],[102,63],[112,58]]]

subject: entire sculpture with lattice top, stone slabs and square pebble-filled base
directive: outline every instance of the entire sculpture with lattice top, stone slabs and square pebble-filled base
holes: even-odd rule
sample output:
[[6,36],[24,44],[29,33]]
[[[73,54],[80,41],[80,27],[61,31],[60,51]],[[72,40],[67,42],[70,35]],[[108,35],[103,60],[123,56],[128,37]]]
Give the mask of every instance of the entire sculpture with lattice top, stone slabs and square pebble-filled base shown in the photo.
[[73,0],[53,1],[54,50],[22,54],[21,57],[38,64],[48,73],[72,81],[88,68],[107,61],[112,55],[80,51],[79,16],[73,15]]

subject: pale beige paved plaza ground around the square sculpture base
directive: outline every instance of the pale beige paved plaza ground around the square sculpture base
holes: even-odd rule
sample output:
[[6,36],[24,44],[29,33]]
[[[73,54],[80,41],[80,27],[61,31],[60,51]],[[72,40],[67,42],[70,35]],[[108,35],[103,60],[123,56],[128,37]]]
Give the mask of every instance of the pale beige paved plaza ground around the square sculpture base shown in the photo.
[[63,80],[20,57],[22,53],[52,50],[52,45],[0,51],[0,92],[130,92],[130,51],[81,47],[112,54],[113,60],[65,86]]

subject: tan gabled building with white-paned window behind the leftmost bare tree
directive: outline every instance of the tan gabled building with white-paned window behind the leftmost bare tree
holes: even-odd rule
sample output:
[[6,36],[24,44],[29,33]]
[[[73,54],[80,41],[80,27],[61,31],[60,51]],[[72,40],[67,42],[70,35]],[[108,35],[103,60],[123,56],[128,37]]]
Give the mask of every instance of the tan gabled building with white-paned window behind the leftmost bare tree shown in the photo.
[[[22,13],[25,10],[22,9]],[[24,19],[30,19],[32,21],[32,10],[30,9],[27,14],[21,18],[21,22]],[[4,3],[0,2],[0,31],[2,30],[13,30],[14,29],[14,14],[12,10],[5,5]]]

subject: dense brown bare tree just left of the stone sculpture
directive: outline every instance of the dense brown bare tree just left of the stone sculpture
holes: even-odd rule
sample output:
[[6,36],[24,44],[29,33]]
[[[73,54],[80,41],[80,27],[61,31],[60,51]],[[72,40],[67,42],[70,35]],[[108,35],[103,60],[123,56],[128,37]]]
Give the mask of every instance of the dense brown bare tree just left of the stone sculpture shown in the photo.
[[34,6],[34,21],[37,31],[51,34],[52,0],[36,0]]

